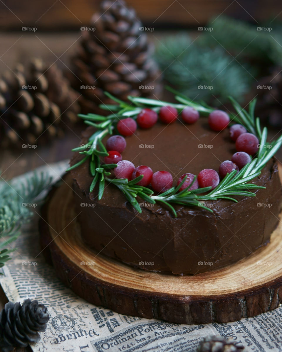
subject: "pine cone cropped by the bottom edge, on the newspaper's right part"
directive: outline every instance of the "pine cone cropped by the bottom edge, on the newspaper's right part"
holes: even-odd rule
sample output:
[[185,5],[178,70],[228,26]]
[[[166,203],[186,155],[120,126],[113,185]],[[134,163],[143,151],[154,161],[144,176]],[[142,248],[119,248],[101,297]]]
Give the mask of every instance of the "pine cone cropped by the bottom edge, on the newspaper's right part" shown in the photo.
[[235,344],[233,339],[225,339],[220,335],[207,336],[200,342],[197,352],[247,352],[241,344]]

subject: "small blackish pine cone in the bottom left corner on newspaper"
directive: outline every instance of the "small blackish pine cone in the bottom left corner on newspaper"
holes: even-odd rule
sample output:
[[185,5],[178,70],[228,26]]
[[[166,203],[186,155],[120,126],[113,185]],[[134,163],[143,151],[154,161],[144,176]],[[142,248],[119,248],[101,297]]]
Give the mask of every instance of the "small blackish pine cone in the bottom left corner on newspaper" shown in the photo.
[[26,347],[40,340],[38,331],[46,330],[49,320],[47,308],[37,301],[27,299],[21,306],[19,302],[8,302],[0,312],[0,347],[9,352],[14,347]]

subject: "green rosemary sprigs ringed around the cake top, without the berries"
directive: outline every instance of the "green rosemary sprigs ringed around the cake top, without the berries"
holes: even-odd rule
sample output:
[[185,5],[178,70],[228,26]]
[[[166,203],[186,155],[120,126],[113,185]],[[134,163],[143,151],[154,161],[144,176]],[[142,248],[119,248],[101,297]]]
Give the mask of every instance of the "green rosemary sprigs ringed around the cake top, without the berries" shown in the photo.
[[165,101],[147,98],[136,98],[133,96],[128,97],[131,103],[125,103],[114,98],[109,93],[105,93],[111,99],[115,100],[117,105],[100,105],[100,107],[106,110],[114,111],[116,113],[110,114],[109,117],[104,117],[97,114],[80,115],[80,117],[83,118],[88,125],[94,125],[97,130],[89,138],[87,145],[73,149],[73,151],[79,152],[84,157],[78,163],[69,167],[68,170],[76,168],[88,159],[90,172],[93,177],[90,186],[90,192],[92,192],[94,187],[97,185],[98,199],[102,199],[105,182],[111,183],[124,194],[126,199],[139,213],[142,212],[142,208],[140,207],[140,203],[137,201],[137,199],[142,199],[145,202],[151,204],[159,202],[168,207],[174,216],[177,216],[177,211],[174,208],[174,205],[197,206],[212,212],[212,209],[205,206],[204,203],[206,201],[228,199],[233,202],[238,202],[238,197],[253,197],[256,194],[253,193],[252,190],[265,188],[258,186],[255,183],[249,182],[254,180],[260,174],[265,164],[275,155],[277,150],[280,148],[282,144],[282,135],[272,143],[267,142],[267,128],[264,127],[262,130],[260,127],[259,118],[255,119],[255,99],[249,103],[249,110],[246,111],[233,98],[229,98],[236,112],[236,114],[231,114],[231,120],[245,126],[249,132],[255,134],[259,139],[260,148],[257,156],[256,158],[252,159],[251,163],[246,164],[239,172],[234,170],[230,174],[227,174],[215,189],[212,190],[211,187],[206,187],[191,191],[186,188],[179,192],[180,187],[185,182],[184,178],[179,186],[171,187],[164,193],[154,195],[151,189],[137,185],[137,183],[142,179],[142,175],[131,181],[128,181],[127,179],[109,177],[111,175],[109,169],[115,168],[117,165],[101,163],[100,156],[108,155],[105,146],[102,143],[102,138],[116,130],[116,124],[119,119],[129,116],[136,118],[137,114],[139,114],[139,112],[146,107],[158,112],[161,106],[167,105],[175,107],[179,113],[186,106],[192,106],[197,111],[199,111],[202,116],[207,116],[214,110],[212,107],[209,107],[204,103],[198,103],[188,99],[186,96],[179,94],[172,88],[167,88],[176,94],[175,99],[177,103],[168,103]]

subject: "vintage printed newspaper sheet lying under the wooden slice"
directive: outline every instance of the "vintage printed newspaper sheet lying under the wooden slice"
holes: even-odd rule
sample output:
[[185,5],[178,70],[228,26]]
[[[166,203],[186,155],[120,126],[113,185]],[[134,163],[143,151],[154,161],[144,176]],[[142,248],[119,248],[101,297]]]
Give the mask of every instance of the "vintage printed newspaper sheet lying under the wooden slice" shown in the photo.
[[[67,163],[45,166],[58,179]],[[17,180],[16,180],[17,181]],[[76,296],[45,263],[38,243],[36,216],[13,246],[12,260],[1,268],[0,283],[10,301],[36,299],[48,307],[50,320],[38,352],[167,352],[196,351],[201,339],[220,334],[241,342],[248,351],[282,351],[282,307],[255,318],[225,324],[179,325],[141,319],[96,307]]]

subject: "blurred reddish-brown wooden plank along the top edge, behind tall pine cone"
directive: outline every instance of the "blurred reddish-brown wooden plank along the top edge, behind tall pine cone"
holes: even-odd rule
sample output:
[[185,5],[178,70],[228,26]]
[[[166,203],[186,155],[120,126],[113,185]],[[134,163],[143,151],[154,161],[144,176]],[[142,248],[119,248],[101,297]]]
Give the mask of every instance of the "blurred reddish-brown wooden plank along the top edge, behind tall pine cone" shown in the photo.
[[[279,0],[128,0],[145,25],[196,27],[224,13],[253,23],[274,18],[282,11]],[[0,29],[75,30],[89,24],[98,0],[1,0]]]

